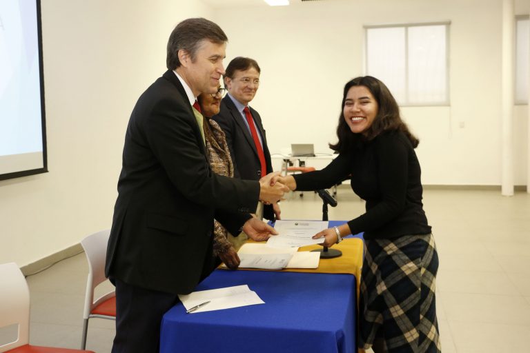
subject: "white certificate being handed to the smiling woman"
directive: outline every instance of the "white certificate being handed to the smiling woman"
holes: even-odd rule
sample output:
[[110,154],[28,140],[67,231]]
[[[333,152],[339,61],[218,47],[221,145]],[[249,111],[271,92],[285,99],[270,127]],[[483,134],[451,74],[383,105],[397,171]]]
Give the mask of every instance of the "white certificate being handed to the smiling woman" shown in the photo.
[[323,239],[311,239],[318,232],[328,228],[327,221],[276,221],[278,235],[271,236],[267,245],[273,248],[291,248],[320,244]]

